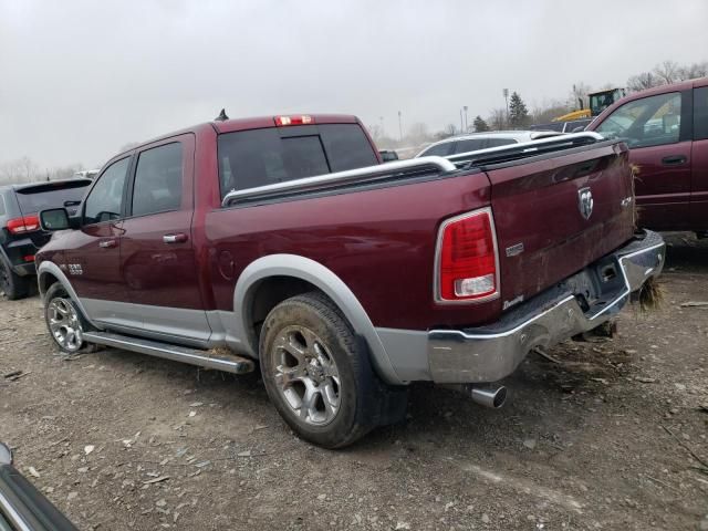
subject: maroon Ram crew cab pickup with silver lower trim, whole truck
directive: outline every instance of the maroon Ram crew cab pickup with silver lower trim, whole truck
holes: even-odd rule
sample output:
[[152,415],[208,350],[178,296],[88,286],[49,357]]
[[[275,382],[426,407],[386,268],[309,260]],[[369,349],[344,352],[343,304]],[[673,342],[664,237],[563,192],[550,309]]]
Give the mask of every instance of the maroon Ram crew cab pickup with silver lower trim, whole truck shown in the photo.
[[301,437],[347,445],[407,384],[490,406],[535,346],[659,274],[624,143],[582,133],[382,164],[353,116],[222,119],[117,155],[37,254],[46,324],[232,373]]

